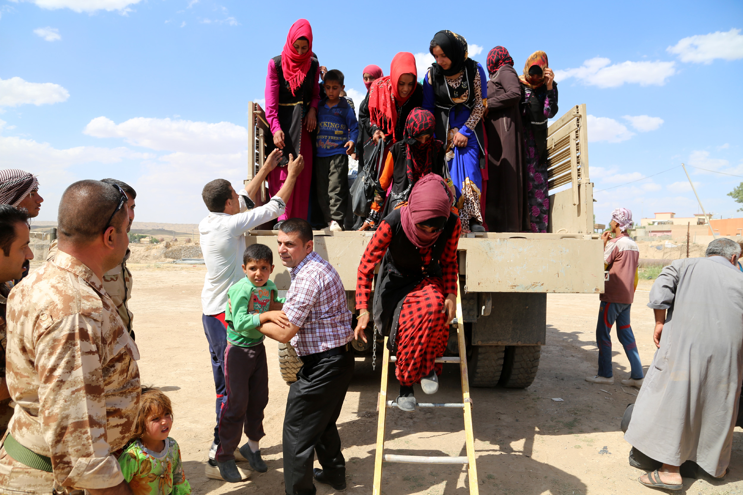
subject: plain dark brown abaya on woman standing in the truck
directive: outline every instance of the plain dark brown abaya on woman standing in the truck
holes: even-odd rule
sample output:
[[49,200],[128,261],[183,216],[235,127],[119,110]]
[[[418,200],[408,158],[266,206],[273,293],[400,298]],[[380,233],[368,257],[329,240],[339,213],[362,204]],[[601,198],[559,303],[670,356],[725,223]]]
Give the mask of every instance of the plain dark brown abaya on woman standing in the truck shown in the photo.
[[490,232],[522,232],[526,194],[523,180],[519,75],[502,65],[487,82],[487,196],[485,223]]

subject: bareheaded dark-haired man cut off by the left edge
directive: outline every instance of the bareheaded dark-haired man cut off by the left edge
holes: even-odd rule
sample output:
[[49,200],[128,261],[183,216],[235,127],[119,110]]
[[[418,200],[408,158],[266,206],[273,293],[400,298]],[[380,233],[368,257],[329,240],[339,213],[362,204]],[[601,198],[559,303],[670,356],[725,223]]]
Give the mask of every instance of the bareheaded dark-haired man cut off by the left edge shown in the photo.
[[33,259],[29,240],[26,210],[0,205],[0,436],[5,434],[10,416],[13,416],[5,383],[5,306],[10,292],[9,282],[21,278],[26,260]]

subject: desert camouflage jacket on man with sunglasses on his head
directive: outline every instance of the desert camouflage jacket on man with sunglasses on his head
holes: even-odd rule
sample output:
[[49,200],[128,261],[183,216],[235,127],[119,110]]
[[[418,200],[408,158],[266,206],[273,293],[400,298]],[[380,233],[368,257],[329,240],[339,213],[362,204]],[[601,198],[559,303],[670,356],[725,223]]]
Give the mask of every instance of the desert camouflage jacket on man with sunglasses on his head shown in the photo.
[[122,482],[111,453],[134,429],[139,351],[100,279],[57,252],[10,292],[7,321],[10,434],[51,457],[59,485]]

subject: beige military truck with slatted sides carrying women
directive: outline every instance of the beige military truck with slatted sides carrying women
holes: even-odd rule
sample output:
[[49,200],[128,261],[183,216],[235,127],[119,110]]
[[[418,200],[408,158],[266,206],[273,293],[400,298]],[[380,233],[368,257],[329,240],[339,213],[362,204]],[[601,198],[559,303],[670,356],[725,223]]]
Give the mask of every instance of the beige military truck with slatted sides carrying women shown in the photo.
[[[603,292],[603,243],[594,234],[586,115],[585,104],[576,105],[548,128],[548,233],[470,233],[459,240],[467,358],[470,384],[475,387],[531,385],[545,345],[548,293]],[[264,163],[265,142],[271,139],[265,113],[255,102],[250,102],[248,122],[251,152],[246,184]],[[263,187],[256,203],[268,199]],[[276,252],[277,232],[270,228],[265,225],[248,232],[246,245],[264,243]],[[314,232],[315,251],[337,269],[348,309],[354,315],[357,268],[371,235]],[[291,283],[287,269],[280,265],[271,278],[279,289],[288,289]],[[371,337],[372,333],[370,325],[367,335]],[[372,354],[375,359],[374,339],[368,340],[366,344],[354,340],[354,350],[358,355]],[[377,338],[380,355],[381,341]],[[451,332],[449,344],[447,353],[458,355],[456,330]],[[296,381],[302,361],[291,345],[279,345],[279,366],[285,381]]]

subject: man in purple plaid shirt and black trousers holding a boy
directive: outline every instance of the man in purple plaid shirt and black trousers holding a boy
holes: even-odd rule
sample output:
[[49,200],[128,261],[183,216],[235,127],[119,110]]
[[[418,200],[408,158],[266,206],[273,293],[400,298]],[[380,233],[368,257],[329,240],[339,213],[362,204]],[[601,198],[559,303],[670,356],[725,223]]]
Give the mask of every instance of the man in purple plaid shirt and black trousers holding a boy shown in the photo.
[[[340,275],[314,252],[307,220],[279,227],[279,257],[291,275],[284,312],[287,327],[266,322],[258,330],[291,341],[304,366],[296,373],[284,416],[284,484],[287,494],[314,495],[312,478],[345,490],[345,459],[335,422],[354,374],[351,312]],[[317,452],[322,469],[312,469]]]

